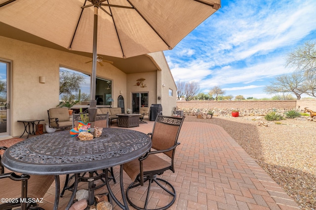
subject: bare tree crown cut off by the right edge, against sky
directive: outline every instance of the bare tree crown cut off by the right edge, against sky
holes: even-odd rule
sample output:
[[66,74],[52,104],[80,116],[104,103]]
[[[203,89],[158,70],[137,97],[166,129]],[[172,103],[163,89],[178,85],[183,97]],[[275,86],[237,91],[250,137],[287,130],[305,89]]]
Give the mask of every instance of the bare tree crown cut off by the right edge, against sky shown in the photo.
[[304,71],[305,74],[316,71],[316,43],[307,41],[286,57],[286,66]]

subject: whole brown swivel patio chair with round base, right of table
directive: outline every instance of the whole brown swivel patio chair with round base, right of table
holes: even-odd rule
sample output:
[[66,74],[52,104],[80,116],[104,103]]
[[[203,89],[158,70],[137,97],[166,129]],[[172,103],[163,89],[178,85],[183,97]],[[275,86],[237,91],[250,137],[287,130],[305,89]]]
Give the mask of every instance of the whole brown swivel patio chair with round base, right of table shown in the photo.
[[[177,141],[183,120],[184,117],[173,118],[158,115],[154,123],[153,132],[149,133],[152,138],[152,149],[140,158],[123,165],[125,173],[131,180],[134,180],[126,190],[126,197],[128,203],[135,209],[148,210],[147,206],[152,196],[150,191],[153,182],[157,183],[153,191],[171,196],[170,202],[164,207],[159,207],[159,210],[168,209],[174,203],[176,199],[174,187],[168,181],[158,178],[157,175],[161,175],[167,170],[171,170],[173,173],[175,172],[174,154],[176,147],[180,144]],[[148,182],[147,197],[144,207],[139,207],[132,202],[129,194],[137,191],[138,189],[132,189],[143,186],[146,181]],[[162,190],[159,189],[159,191],[157,191],[158,187]],[[137,201],[137,203],[139,203],[139,201]]]

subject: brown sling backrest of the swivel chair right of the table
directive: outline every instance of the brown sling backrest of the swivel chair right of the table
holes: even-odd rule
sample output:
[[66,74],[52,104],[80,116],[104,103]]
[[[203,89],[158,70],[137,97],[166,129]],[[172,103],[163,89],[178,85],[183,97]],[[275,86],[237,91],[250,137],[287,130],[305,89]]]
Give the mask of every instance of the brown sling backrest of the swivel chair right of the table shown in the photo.
[[[155,150],[165,150],[175,145],[178,142],[184,118],[158,115],[152,132],[152,148]],[[175,149],[164,153],[173,158],[174,151]]]

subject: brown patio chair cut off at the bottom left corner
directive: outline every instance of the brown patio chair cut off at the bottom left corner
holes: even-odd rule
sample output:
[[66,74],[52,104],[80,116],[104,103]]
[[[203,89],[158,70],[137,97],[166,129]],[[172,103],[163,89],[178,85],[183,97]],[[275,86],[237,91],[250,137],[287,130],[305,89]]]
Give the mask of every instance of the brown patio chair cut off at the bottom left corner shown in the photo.
[[[0,150],[6,150],[6,147],[0,147]],[[40,198],[43,198],[50,185],[55,180],[54,176],[46,175],[18,175],[10,172],[1,164],[0,156],[0,186],[1,197],[8,198],[13,202],[0,203],[1,210],[11,210],[12,208],[20,207],[21,210],[43,210],[36,203]],[[19,183],[20,182],[20,183]],[[31,201],[21,203],[21,199]]]

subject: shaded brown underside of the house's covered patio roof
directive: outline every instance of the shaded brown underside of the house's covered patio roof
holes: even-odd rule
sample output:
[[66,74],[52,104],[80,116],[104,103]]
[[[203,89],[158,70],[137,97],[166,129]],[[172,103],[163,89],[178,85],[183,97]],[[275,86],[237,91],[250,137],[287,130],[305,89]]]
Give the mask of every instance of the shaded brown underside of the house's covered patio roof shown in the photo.
[[[56,50],[60,50],[60,51],[68,52],[68,53],[73,53],[76,55],[85,56],[85,57],[88,57],[86,61],[92,60],[92,53],[84,53],[84,52],[79,52],[79,51],[68,50],[57,44],[54,44],[45,39],[42,39],[38,36],[35,36],[23,30],[16,29],[14,27],[3,24],[1,22],[0,22],[0,29],[1,29],[0,36],[36,44],[43,47],[48,47],[48,48],[52,48],[52,49],[56,49]],[[121,58],[104,56],[104,55],[100,55],[100,56],[102,56],[104,60],[113,61],[113,65],[126,74],[161,70],[159,66],[148,55],[141,55],[141,56],[136,56],[136,57],[127,58],[127,59],[121,59]]]

